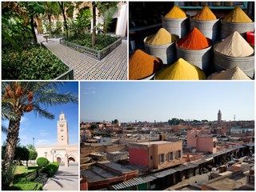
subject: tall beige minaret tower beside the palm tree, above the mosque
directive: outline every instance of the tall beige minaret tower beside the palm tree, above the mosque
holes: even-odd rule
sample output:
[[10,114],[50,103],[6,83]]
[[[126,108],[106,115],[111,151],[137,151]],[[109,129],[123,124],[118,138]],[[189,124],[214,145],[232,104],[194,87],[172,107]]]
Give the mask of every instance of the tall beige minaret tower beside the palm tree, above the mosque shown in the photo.
[[65,114],[59,115],[58,121],[58,145],[68,145],[69,144],[69,128],[66,122]]

